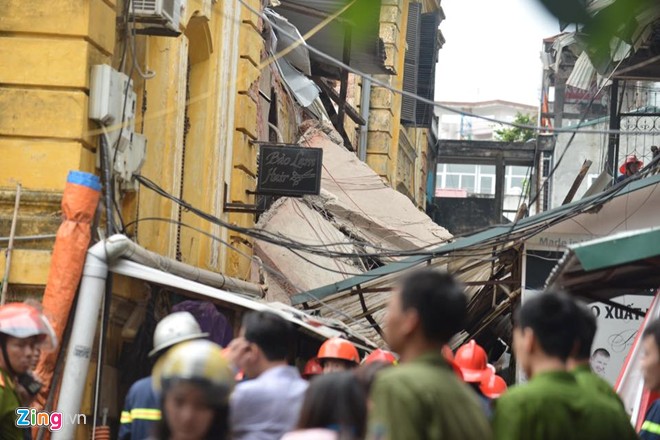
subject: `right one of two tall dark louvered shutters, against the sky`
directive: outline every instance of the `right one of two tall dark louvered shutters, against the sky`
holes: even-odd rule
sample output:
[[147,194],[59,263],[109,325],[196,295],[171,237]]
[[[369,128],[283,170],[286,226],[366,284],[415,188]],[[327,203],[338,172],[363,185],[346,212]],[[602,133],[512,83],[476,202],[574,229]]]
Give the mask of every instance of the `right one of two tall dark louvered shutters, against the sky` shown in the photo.
[[[419,30],[419,61],[417,63],[416,93],[433,100],[435,94],[435,66],[438,61],[438,26],[440,17],[437,12],[422,14]],[[415,122],[418,126],[430,126],[433,119],[433,106],[417,102]]]

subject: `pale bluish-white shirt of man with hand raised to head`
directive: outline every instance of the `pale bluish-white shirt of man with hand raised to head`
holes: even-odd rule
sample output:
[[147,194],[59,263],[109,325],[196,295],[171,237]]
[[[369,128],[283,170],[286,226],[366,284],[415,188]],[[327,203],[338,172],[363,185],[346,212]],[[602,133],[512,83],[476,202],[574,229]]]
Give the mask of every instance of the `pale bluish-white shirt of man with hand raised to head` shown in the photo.
[[266,370],[236,386],[230,401],[234,440],[279,440],[298,423],[307,382],[295,367]]

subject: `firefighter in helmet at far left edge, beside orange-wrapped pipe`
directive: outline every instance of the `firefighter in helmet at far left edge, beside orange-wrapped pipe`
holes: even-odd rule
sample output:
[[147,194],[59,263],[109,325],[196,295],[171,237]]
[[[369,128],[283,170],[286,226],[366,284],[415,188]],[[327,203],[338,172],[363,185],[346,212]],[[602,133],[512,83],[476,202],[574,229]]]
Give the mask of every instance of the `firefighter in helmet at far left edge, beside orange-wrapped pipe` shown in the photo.
[[[57,338],[48,319],[23,303],[0,306],[0,438],[22,440],[25,429],[17,427],[16,409],[31,402],[40,384],[29,374],[37,350],[53,350]],[[31,388],[31,385],[36,386]]]

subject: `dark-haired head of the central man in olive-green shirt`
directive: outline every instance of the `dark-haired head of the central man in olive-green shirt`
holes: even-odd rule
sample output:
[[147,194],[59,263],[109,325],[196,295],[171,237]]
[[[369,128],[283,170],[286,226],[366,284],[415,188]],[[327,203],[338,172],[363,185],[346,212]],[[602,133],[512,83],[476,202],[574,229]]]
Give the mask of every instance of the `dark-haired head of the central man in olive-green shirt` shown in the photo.
[[453,276],[417,271],[403,280],[390,299],[385,338],[402,356],[413,341],[439,351],[461,329],[466,315],[467,300]]

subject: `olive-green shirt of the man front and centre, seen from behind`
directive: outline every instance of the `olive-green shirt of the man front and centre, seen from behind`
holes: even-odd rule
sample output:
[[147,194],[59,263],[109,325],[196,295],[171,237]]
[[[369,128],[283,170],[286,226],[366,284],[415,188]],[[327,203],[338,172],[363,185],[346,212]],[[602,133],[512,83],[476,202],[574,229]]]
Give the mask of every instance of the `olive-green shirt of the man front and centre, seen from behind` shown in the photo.
[[492,433],[474,392],[440,353],[388,368],[376,377],[371,440],[489,440]]

